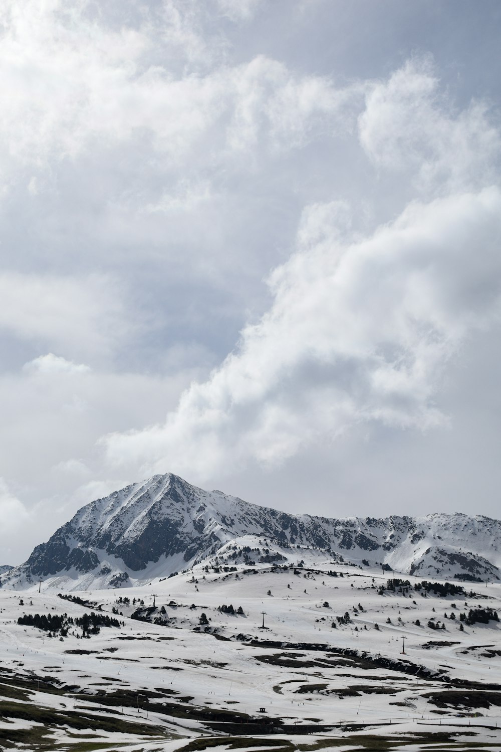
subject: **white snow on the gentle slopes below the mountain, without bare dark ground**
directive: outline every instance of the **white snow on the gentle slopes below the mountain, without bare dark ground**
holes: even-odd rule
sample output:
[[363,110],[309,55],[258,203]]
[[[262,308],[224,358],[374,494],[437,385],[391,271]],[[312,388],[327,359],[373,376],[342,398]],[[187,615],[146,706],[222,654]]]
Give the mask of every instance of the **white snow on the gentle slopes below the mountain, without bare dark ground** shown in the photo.
[[[243,544],[253,547],[256,541],[249,536]],[[271,544],[267,547],[275,553],[280,551]],[[283,553],[290,558],[291,551]],[[34,627],[17,624],[23,612],[51,611],[81,616],[89,611],[59,599],[56,591],[49,590],[47,585],[40,594],[36,588],[22,593],[0,590],[0,682],[8,669],[25,677],[56,678],[63,687],[74,688],[62,695],[35,692],[30,702],[59,710],[63,705],[68,709],[73,704],[86,708],[95,717],[106,713],[86,696],[95,696],[99,690],[107,695],[117,690],[127,691],[138,694],[140,699],[142,693],[159,690],[167,695],[174,693],[167,699],[174,704],[180,702],[185,708],[194,708],[194,715],[196,708],[206,708],[216,715],[234,711],[252,718],[281,718],[291,724],[356,723],[365,726],[365,731],[360,733],[370,729],[371,733],[380,735],[394,735],[397,729],[398,734],[415,734],[424,729],[431,729],[430,733],[436,729],[455,733],[461,729],[457,724],[463,724],[468,726],[469,733],[473,729],[477,741],[498,744],[497,748],[501,748],[501,735],[495,730],[501,723],[501,702],[478,708],[457,702],[439,707],[427,695],[443,693],[447,689],[444,682],[417,678],[376,663],[354,662],[339,653],[348,648],[358,650],[359,654],[367,653],[373,659],[382,656],[391,661],[408,660],[429,669],[432,676],[442,670],[453,679],[476,683],[477,690],[487,684],[499,684],[498,623],[465,626],[460,632],[458,618],[454,621],[444,618],[445,611],[453,610],[454,602],[457,617],[460,611],[478,604],[501,608],[499,585],[465,585],[467,592],[476,590],[487,599],[423,598],[413,592],[403,597],[388,591],[379,595],[379,586],[386,583],[391,573],[383,575],[380,569],[333,564],[318,550],[301,548],[293,550],[292,555],[294,564],[303,561],[302,567],[296,567],[296,575],[294,569],[273,572],[273,565],[258,563],[250,567],[239,563],[235,565],[237,572],[220,569],[217,573],[211,567],[206,572],[205,566],[210,565],[207,559],[188,573],[168,579],[156,578],[143,587],[79,591],[78,596],[98,603],[103,611],[111,612],[113,608],[122,611],[122,616],[118,614],[116,618],[125,622],[120,629],[103,627],[90,639],[68,636],[60,641],[48,638]],[[221,562],[224,551],[218,556]],[[327,575],[333,569],[337,571],[336,578]],[[256,573],[245,574],[249,571]],[[341,573],[343,577],[339,576]],[[421,578],[406,579],[414,584]],[[130,602],[134,598],[142,599],[145,607],[152,605],[155,596],[156,610],[152,617],[160,616],[164,606],[169,626],[131,620],[139,604],[126,605],[124,596]],[[21,599],[23,605],[20,605]],[[324,606],[325,602],[328,606]],[[244,615],[219,611],[218,607],[223,604],[232,604],[235,611],[241,606]],[[192,605],[195,608],[191,608]],[[354,608],[358,613],[355,614]],[[267,627],[264,630],[260,629],[262,611],[265,611]],[[343,617],[346,612],[350,614],[350,622],[337,623],[333,629],[332,622],[337,622],[336,617]],[[202,613],[210,620],[208,633],[194,631],[204,629],[199,624]],[[401,622],[397,621],[398,617]],[[426,625],[432,617],[445,623],[446,629],[429,629]],[[413,624],[416,619],[422,626]],[[374,629],[375,623],[379,630]],[[226,639],[217,639],[212,633],[214,630]],[[401,654],[404,636],[406,656]],[[249,644],[252,638],[282,645]],[[445,644],[423,647],[430,642]],[[313,650],[315,644],[327,647]],[[78,654],[66,652],[68,650],[91,652]],[[490,653],[487,657],[486,650]],[[123,708],[124,719],[137,721],[139,717],[143,726],[161,726],[165,735],[180,737],[174,741],[162,738],[161,744],[169,745],[165,749],[174,749],[176,744],[182,746],[183,739],[186,743],[189,738],[208,732],[207,725],[195,717],[190,719],[189,713],[180,717],[156,712],[155,704],[167,702],[167,695],[151,699],[147,710],[140,707],[139,712],[137,709],[134,712],[134,708]],[[260,708],[265,708],[263,714]],[[471,717],[475,712],[481,716]],[[21,721],[16,720],[16,723]],[[493,726],[494,730],[484,726]],[[342,727],[330,731],[333,737],[343,733]],[[62,741],[68,734],[58,729],[55,738]],[[93,741],[104,743],[110,738],[100,731]],[[134,734],[121,734],[120,738],[122,742],[137,741]],[[307,738],[312,741],[312,737]],[[146,749],[144,744],[143,748]]]

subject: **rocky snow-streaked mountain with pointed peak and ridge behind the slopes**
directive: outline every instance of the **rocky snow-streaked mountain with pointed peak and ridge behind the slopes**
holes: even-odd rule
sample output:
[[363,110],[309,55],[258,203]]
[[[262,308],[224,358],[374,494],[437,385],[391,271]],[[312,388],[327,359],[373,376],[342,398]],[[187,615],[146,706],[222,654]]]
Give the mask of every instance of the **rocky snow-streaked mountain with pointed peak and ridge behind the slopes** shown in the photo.
[[[335,560],[385,566],[423,577],[497,581],[501,523],[466,514],[345,517],[287,514],[207,492],[176,475],[155,475],[81,508],[21,566],[2,573],[3,586],[38,579],[60,590],[142,584],[188,569],[229,541],[258,536],[268,556],[297,561],[297,547]],[[276,559],[279,560],[279,559]]]

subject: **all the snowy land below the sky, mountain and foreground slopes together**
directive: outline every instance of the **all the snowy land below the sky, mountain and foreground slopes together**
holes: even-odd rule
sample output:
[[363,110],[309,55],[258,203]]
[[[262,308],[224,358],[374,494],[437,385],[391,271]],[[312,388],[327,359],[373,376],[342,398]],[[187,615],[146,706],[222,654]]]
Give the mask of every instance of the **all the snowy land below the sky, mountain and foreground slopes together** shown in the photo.
[[133,484],[0,568],[0,749],[501,750],[500,542]]

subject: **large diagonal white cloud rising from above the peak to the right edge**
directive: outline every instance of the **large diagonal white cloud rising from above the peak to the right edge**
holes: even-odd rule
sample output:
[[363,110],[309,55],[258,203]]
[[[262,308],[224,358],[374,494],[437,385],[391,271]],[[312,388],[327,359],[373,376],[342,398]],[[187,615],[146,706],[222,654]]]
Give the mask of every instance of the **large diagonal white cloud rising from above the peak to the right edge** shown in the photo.
[[311,247],[273,272],[273,305],[237,352],[163,425],[109,435],[111,462],[203,478],[282,462],[360,421],[444,422],[435,398],[446,363],[499,313],[501,193],[412,204],[352,243],[332,232],[332,211],[306,212],[300,239],[309,247],[309,233]]

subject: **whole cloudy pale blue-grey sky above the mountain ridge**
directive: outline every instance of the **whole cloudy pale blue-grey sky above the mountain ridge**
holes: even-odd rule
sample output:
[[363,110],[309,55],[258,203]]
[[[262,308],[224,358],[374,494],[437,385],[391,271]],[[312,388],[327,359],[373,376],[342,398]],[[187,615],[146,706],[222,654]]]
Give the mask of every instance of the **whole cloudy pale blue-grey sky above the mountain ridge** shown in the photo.
[[499,517],[497,0],[4,0],[0,35],[0,563],[164,472]]

